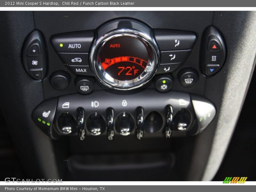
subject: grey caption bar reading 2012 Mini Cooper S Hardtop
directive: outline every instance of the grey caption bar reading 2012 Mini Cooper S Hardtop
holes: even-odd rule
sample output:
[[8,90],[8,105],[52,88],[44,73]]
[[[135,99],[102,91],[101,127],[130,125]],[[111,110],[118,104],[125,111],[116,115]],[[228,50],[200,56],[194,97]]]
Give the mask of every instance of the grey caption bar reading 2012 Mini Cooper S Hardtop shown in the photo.
[[46,0],[46,1],[1,1],[0,7],[255,7],[252,0]]

